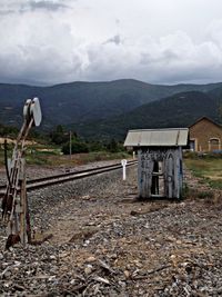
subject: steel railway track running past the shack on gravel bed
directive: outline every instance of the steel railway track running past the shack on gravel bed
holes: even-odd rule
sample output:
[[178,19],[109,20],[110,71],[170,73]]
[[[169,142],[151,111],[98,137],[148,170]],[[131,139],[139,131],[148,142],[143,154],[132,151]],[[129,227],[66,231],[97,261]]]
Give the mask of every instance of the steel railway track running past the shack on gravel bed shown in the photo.
[[[127,167],[130,167],[130,166],[133,166],[137,164],[138,164],[137,160],[128,161]],[[31,190],[53,186],[57,184],[63,184],[63,182],[71,181],[71,180],[82,179],[82,178],[87,178],[90,176],[109,172],[109,171],[121,169],[121,168],[122,168],[121,164],[114,164],[114,165],[109,165],[109,166],[90,168],[90,169],[85,169],[85,170],[71,171],[71,172],[65,172],[65,174],[60,174],[60,175],[54,175],[54,176],[48,176],[48,177],[43,177],[43,178],[29,179],[29,180],[27,180],[27,190],[31,191]],[[0,186],[0,196],[2,196],[6,192],[6,188],[7,188],[7,186],[4,186],[4,185]]]

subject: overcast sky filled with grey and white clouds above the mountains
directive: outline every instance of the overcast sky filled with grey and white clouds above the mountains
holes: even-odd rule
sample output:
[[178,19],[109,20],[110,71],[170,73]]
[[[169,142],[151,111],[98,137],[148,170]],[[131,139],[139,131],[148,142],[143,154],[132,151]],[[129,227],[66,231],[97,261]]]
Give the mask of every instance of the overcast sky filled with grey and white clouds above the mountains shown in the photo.
[[0,0],[0,82],[222,81],[221,0]]

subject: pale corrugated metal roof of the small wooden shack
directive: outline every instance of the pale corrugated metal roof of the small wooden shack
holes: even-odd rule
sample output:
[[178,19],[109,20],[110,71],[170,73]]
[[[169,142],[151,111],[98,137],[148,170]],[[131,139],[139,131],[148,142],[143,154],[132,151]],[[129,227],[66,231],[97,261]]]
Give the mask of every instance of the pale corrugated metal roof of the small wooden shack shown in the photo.
[[188,128],[129,130],[124,147],[186,146],[188,132]]

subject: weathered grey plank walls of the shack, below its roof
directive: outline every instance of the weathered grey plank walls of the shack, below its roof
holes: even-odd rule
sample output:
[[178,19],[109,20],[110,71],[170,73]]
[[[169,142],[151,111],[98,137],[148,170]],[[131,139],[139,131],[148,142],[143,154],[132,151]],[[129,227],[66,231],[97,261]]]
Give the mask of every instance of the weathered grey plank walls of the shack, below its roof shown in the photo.
[[[163,175],[163,197],[180,198],[182,191],[182,149],[151,148],[138,152],[138,185],[139,197],[151,198],[159,195],[159,175]],[[162,172],[157,170],[157,162],[162,162]],[[158,175],[157,175],[158,174]],[[154,177],[154,178],[153,178]],[[153,184],[154,182],[154,184]]]

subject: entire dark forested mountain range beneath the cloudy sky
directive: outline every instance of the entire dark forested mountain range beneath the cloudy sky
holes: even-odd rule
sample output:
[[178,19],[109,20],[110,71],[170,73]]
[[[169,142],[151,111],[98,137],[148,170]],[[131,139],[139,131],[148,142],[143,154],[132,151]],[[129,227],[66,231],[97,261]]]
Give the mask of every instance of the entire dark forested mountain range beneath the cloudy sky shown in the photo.
[[39,97],[42,129],[74,128],[85,138],[123,139],[128,129],[186,127],[202,116],[221,117],[222,82],[150,85],[133,79],[51,87],[0,83],[0,123],[20,127],[28,98]]

